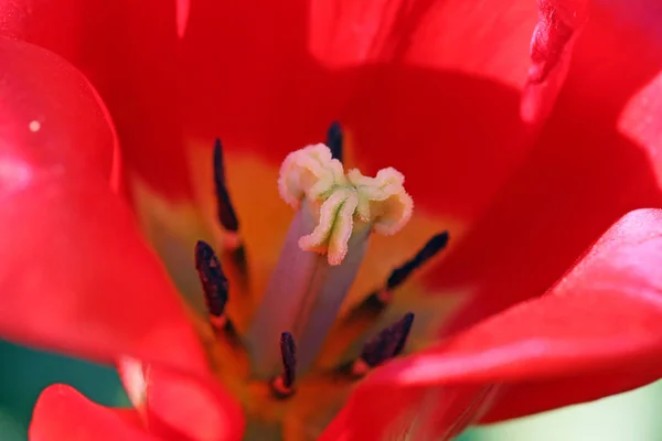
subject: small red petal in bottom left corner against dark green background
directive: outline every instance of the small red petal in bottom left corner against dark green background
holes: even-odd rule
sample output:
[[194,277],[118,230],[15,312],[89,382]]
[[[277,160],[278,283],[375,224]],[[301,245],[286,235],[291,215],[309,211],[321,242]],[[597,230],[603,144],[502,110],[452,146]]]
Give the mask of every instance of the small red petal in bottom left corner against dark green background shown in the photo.
[[49,386],[39,397],[30,441],[156,441],[138,427],[135,410],[108,409],[67,385]]

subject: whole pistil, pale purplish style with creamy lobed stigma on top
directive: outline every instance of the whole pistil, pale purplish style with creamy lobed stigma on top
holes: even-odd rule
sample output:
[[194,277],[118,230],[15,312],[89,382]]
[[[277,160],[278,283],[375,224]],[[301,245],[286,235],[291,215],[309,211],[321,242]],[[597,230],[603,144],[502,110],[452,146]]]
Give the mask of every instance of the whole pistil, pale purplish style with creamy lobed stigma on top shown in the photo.
[[371,232],[394,234],[412,216],[414,203],[403,182],[394,169],[376,178],[357,170],[345,175],[323,144],[285,159],[278,187],[298,211],[248,333],[257,375],[270,376],[277,367],[277,354],[266,342],[281,330],[290,330],[298,342],[300,372],[312,365],[356,277]]

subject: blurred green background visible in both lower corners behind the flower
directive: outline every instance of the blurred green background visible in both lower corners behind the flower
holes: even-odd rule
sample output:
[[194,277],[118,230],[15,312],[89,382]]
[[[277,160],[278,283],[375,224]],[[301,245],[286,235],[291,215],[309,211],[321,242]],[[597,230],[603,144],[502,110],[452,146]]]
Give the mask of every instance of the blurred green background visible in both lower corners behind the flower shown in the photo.
[[[0,359],[1,441],[26,440],[34,401],[53,383],[73,385],[107,406],[128,406],[119,379],[109,367],[2,341]],[[461,441],[559,440],[662,441],[662,381],[592,404],[477,428],[461,437]]]

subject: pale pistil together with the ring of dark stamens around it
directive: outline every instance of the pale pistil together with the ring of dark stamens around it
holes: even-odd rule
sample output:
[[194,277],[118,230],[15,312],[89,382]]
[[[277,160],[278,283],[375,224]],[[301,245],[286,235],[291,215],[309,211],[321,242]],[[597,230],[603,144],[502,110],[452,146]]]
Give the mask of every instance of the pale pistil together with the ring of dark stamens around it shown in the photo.
[[[332,372],[316,365],[324,342],[334,337],[333,326],[338,326],[339,311],[371,235],[401,230],[414,205],[404,190],[402,173],[393,168],[380,170],[374,178],[356,169],[345,173],[342,153],[343,133],[340,125],[333,123],[327,144],[308,146],[282,162],[278,190],[296,213],[250,324],[237,330],[227,314],[226,305],[234,297],[224,269],[232,267],[229,270],[247,284],[247,259],[225,183],[220,141],[214,149],[217,218],[226,233],[224,255],[218,259],[211,246],[199,241],[195,268],[216,338],[229,343],[248,359],[248,381],[261,381],[276,400],[291,399],[297,395],[297,384],[303,388],[311,379],[338,385],[340,378],[341,384],[351,384],[399,355],[414,323],[413,313],[372,337],[366,338],[366,330],[391,303],[392,291],[448,241],[447,233],[434,236],[416,256],[395,268],[381,289],[366,295],[341,320],[348,331],[342,338],[359,343],[360,351],[353,358],[339,361]],[[361,325],[353,326],[357,322]]]

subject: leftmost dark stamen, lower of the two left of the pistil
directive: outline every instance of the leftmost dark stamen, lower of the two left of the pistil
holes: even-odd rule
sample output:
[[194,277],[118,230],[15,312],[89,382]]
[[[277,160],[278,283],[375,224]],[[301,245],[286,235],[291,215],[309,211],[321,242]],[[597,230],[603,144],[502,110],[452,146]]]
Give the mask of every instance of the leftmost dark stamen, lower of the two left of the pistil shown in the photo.
[[223,273],[214,249],[202,240],[195,244],[195,269],[204,292],[212,327],[217,333],[223,333],[233,345],[239,344],[238,333],[225,314],[229,291],[227,278]]

